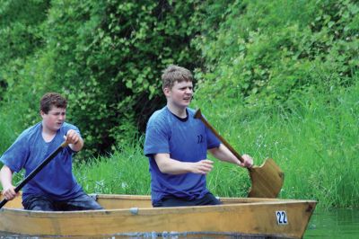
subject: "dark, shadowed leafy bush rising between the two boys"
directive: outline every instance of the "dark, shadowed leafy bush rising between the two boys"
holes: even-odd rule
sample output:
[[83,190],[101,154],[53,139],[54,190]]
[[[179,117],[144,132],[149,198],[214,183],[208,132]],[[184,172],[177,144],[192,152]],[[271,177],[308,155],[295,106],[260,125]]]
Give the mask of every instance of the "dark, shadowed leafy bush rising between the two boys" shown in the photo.
[[144,128],[148,114],[163,102],[162,68],[171,62],[192,64],[195,52],[188,51],[188,44],[195,30],[180,20],[190,18],[194,3],[93,1],[75,7],[74,14],[88,17],[74,27],[77,33],[64,36],[56,29],[59,22],[51,29],[52,35],[61,34],[57,40],[70,38],[74,44],[66,48],[65,55],[74,58],[63,84],[74,103],[74,120],[99,151],[133,136],[136,126]]

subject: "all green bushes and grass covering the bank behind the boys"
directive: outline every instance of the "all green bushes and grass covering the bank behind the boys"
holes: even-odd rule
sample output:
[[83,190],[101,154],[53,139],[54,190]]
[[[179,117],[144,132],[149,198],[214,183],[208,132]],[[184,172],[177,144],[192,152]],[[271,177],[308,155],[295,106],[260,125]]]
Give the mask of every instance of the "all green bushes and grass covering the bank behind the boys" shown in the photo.
[[[235,148],[281,165],[281,197],[359,205],[355,0],[4,0],[0,34],[0,152],[56,91],[86,141],[84,188],[147,194],[144,126],[175,63],[196,75],[193,107]],[[249,183],[218,162],[209,175],[221,196],[243,196]]]

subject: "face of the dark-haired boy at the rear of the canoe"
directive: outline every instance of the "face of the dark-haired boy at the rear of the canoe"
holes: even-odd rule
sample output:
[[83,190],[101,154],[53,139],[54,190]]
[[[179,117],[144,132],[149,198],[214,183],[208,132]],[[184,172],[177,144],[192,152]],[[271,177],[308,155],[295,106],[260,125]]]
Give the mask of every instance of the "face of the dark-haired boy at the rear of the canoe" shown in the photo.
[[62,124],[66,120],[66,109],[51,107],[51,110],[46,114],[44,111],[40,111],[43,127],[50,131],[57,131],[61,128]]

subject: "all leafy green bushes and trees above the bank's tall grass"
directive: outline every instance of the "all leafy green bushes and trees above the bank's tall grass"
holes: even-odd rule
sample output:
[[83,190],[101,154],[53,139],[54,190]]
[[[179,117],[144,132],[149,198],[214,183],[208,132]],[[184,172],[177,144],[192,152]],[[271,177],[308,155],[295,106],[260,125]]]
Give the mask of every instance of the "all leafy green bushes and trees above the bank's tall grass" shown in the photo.
[[144,130],[171,63],[197,67],[199,101],[228,105],[353,84],[358,9],[344,0],[5,1],[0,97],[22,112],[18,130],[39,120],[43,93],[64,93],[67,120],[89,152],[103,152]]

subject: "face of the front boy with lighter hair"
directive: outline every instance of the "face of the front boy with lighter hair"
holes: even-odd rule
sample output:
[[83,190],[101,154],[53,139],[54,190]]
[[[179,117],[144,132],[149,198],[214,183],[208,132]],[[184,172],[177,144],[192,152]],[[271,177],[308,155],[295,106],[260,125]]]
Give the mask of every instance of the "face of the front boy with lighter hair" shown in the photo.
[[164,88],[167,101],[180,108],[186,108],[192,100],[193,84],[190,81],[175,82],[172,88]]

